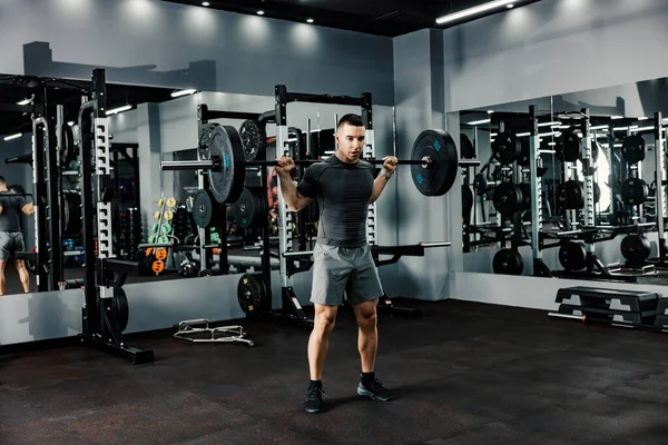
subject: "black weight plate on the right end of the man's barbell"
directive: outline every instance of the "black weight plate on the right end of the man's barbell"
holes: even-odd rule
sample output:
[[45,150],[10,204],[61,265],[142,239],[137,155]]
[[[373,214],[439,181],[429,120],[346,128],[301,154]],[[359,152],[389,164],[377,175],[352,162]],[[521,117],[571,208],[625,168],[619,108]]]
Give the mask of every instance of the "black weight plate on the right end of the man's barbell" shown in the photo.
[[425,168],[411,165],[413,184],[424,196],[442,196],[450,190],[458,175],[456,146],[452,137],[442,130],[424,130],[413,144],[412,160],[431,158]]

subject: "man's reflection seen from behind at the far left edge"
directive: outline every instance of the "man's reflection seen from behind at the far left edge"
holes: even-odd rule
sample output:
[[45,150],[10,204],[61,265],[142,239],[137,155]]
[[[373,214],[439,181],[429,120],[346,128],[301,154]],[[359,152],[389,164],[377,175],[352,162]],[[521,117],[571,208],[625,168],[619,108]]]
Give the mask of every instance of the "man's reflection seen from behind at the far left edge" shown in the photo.
[[17,196],[7,189],[7,180],[0,176],[0,295],[4,295],[4,266],[14,260],[23,291],[30,291],[30,277],[22,259],[16,259],[16,253],[26,249],[21,231],[21,211],[28,216],[35,214],[32,202],[26,196]]

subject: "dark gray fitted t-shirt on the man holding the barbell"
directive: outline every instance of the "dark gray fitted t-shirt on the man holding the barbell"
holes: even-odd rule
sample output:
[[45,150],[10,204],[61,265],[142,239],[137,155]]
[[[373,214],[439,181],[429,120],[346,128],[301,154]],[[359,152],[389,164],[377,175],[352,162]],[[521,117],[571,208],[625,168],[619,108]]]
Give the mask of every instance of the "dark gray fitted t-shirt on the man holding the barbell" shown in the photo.
[[366,244],[369,199],[374,179],[375,168],[370,162],[346,164],[334,155],[306,169],[297,191],[317,200],[317,243],[338,247]]

